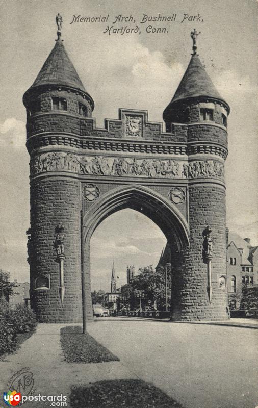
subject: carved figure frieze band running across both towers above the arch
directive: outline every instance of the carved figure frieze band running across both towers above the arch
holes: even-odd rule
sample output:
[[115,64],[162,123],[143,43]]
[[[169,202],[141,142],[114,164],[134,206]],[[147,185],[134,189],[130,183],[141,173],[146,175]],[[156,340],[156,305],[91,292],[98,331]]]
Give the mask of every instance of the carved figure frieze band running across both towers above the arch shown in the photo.
[[158,177],[165,179],[224,179],[224,165],[217,160],[179,160],[77,156],[67,152],[45,153],[32,159],[31,175],[48,171],[70,171],[79,174]]

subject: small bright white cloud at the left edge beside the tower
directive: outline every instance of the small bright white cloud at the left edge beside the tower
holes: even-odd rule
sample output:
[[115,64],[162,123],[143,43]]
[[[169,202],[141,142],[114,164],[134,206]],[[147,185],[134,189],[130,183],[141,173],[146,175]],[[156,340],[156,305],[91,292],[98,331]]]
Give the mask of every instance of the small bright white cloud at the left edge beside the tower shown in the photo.
[[16,118],[8,118],[0,123],[0,144],[2,147],[25,148],[25,123]]

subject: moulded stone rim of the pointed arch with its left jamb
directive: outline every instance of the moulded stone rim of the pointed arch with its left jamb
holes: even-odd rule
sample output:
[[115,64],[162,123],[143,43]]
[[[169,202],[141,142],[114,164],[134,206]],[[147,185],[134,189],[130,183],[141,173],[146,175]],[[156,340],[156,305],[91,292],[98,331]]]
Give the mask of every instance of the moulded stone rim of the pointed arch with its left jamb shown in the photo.
[[189,244],[188,225],[182,214],[168,199],[147,187],[130,185],[116,188],[97,199],[83,217],[84,313],[88,320],[93,318],[90,262],[91,238],[102,221],[124,209],[134,210],[153,221],[166,237],[174,259]]

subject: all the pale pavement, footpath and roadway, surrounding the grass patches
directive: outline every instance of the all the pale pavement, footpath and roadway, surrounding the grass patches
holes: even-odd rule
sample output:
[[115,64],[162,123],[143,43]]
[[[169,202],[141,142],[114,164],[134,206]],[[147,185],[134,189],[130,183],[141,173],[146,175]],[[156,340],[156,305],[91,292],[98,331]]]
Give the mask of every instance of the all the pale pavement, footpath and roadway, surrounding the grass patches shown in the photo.
[[[89,333],[120,358],[102,364],[66,363],[60,347],[62,324],[39,324],[16,354],[0,362],[0,406],[6,382],[29,367],[36,394],[67,395],[72,385],[104,379],[153,382],[186,408],[255,408],[258,330],[169,323],[134,318],[100,318]],[[49,408],[28,403],[28,408]],[[83,407],[82,407],[83,408]]]

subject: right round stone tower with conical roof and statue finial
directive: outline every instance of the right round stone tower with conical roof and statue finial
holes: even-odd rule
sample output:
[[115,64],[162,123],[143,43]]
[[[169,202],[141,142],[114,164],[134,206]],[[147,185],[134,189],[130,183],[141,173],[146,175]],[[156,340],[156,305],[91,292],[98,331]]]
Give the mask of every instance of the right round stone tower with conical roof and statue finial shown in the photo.
[[[174,133],[177,123],[185,124],[188,152],[188,166],[183,165],[183,172],[187,172],[189,179],[190,245],[184,254],[182,253],[183,273],[175,272],[172,277],[171,297],[174,319],[180,316],[181,320],[192,320],[194,317],[219,320],[228,318],[224,290],[226,279],[224,160],[227,156],[229,106],[214,87],[200,62],[196,52],[197,35],[195,30],[191,33],[192,58],[171,102],[163,112],[166,132]],[[203,227],[207,225],[207,230],[203,228],[202,234],[200,225]],[[211,250],[208,249],[209,240],[213,242],[210,242],[213,246]],[[173,270],[172,252],[171,257]],[[199,303],[195,304],[192,299],[197,294]]]

